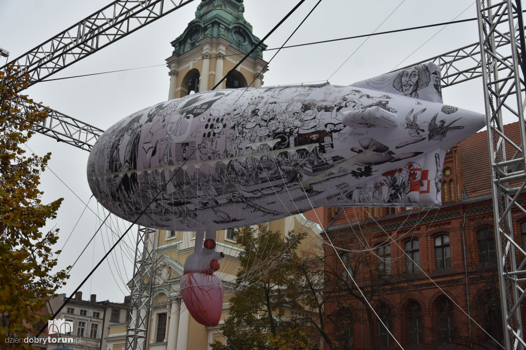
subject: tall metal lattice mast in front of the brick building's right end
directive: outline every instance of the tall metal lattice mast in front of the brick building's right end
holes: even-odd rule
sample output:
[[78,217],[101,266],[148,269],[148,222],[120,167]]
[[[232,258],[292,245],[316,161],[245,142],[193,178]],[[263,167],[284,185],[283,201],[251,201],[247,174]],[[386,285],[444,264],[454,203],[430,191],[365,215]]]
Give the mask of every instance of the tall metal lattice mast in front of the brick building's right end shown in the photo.
[[[511,217],[514,208],[526,213],[518,201],[526,188],[523,70],[526,50],[520,0],[487,0],[487,3],[477,0],[477,18],[482,48],[480,58],[488,123],[504,346],[507,350],[524,349],[526,343],[520,306],[525,297],[521,284],[524,286],[526,281],[526,254],[514,241]],[[502,34],[506,32],[508,34]],[[504,117],[508,119],[509,116],[519,121],[514,129],[504,128]],[[514,141],[516,136],[512,137],[517,134],[519,142]]]

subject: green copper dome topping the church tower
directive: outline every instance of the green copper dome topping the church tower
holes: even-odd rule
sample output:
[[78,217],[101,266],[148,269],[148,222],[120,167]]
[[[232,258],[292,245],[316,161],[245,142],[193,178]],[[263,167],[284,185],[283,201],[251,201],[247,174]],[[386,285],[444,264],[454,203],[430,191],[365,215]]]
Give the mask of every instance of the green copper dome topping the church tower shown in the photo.
[[[171,42],[173,54],[183,55],[205,37],[224,38],[240,52],[249,52],[260,39],[252,34],[252,26],[243,16],[244,12],[243,0],[201,1],[197,6],[196,18],[188,23],[183,34]],[[267,45],[261,47],[266,48]],[[263,58],[260,49],[250,56]]]

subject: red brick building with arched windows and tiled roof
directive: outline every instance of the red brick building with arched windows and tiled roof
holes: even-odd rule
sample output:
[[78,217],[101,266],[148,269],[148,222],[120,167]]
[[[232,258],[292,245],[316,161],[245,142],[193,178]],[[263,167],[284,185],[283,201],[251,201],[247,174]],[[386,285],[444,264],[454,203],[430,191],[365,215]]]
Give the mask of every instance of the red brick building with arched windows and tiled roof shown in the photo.
[[[518,131],[507,128],[506,135]],[[513,137],[519,139],[518,132]],[[333,345],[494,348],[495,340],[501,342],[485,131],[448,150],[442,202],[431,210],[318,209],[329,221],[328,238],[346,249],[325,246],[325,313]],[[526,246],[526,214],[516,210],[513,218],[515,241]],[[523,319],[525,314],[523,308]],[[330,348],[327,342],[324,348]]]

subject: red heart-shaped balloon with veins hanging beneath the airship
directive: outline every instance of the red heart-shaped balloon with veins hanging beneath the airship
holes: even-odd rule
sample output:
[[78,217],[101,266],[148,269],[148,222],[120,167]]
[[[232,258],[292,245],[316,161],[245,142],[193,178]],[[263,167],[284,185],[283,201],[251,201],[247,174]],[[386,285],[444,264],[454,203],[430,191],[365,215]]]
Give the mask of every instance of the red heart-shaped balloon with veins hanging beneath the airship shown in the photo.
[[213,274],[188,272],[181,276],[181,296],[194,320],[217,326],[223,307],[223,284]]

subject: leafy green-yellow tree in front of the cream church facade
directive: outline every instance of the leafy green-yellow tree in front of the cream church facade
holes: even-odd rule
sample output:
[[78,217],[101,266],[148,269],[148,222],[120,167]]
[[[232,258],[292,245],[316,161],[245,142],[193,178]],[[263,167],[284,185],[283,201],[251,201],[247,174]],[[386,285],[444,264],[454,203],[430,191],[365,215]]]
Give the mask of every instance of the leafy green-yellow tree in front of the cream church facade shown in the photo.
[[237,283],[241,292],[230,299],[230,312],[221,327],[228,344],[213,349],[294,349],[308,346],[307,335],[294,323],[280,322],[295,299],[287,286],[298,282],[296,250],[306,233],[290,231],[285,237],[269,231],[243,228],[236,231],[240,254]]

